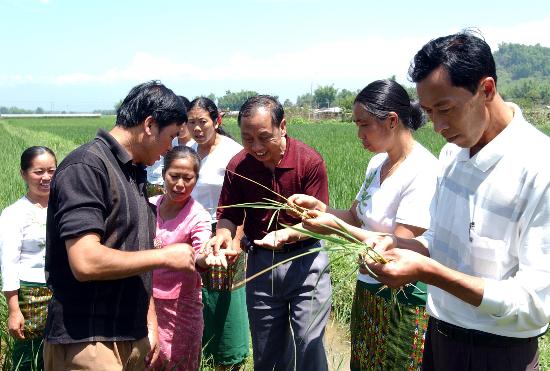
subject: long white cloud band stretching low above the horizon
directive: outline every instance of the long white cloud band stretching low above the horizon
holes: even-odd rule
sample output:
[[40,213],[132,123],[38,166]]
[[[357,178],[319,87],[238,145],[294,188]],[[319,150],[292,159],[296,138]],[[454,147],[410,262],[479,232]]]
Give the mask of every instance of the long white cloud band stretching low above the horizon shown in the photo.
[[[510,25],[508,27],[479,27],[493,50],[501,42],[523,44],[540,43],[550,46],[550,17],[541,21]],[[449,30],[449,33],[456,30]],[[221,81],[221,80],[276,80],[318,81],[340,80],[368,81],[396,75],[406,81],[409,63],[416,51],[430,38],[424,35],[402,38],[366,37],[359,40],[319,43],[302,50],[286,51],[273,55],[254,55],[249,51],[237,51],[220,64],[204,67],[192,63],[180,63],[169,58],[138,52],[126,65],[116,66],[98,74],[72,72],[54,77],[1,76],[0,84],[48,81],[57,85],[90,83],[135,82],[148,79],[170,81]]]

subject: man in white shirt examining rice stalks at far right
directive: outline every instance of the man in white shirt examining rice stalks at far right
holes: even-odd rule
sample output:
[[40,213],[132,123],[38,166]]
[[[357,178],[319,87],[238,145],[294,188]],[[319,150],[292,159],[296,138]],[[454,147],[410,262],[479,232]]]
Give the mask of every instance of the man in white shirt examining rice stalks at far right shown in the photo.
[[550,320],[550,139],[503,101],[491,50],[474,35],[430,41],[409,74],[449,144],[430,229],[373,237],[390,262],[369,268],[391,287],[428,283],[424,370],[538,369]]

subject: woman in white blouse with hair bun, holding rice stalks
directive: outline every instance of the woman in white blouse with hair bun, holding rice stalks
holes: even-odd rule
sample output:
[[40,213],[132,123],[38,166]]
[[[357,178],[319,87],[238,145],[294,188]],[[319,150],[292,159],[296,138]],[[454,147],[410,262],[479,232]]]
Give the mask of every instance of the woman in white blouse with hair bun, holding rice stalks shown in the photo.
[[[378,80],[357,95],[353,116],[359,140],[375,155],[349,210],[330,208],[307,195],[293,195],[289,203],[312,210],[313,218],[302,225],[318,233],[330,234],[326,226],[344,226],[359,240],[369,231],[419,236],[430,225],[437,177],[436,158],[412,135],[424,123],[420,106],[397,82]],[[283,231],[291,240],[292,232]],[[359,273],[350,324],[351,369],[420,369],[426,295],[426,285],[417,282],[404,287],[395,301],[390,289]]]

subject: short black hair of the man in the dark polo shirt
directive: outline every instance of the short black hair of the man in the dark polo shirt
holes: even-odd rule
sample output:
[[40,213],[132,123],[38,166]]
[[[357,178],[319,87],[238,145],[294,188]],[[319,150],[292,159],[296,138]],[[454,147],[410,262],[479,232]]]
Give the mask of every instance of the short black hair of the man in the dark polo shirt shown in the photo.
[[153,117],[159,129],[187,121],[183,100],[160,83],[149,81],[130,90],[117,109],[116,125],[131,128],[141,124],[148,116]]

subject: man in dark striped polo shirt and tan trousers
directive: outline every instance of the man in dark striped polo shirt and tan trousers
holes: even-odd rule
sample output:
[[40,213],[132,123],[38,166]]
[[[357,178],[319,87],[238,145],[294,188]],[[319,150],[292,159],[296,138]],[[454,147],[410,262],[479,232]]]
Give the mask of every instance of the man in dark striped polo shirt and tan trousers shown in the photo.
[[53,291],[46,370],[140,370],[158,355],[151,270],[191,272],[194,254],[187,244],[152,249],[155,213],[144,166],[170,149],[185,121],[185,106],[170,89],[138,85],[117,110],[115,127],[59,165],[46,226]]

